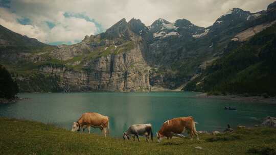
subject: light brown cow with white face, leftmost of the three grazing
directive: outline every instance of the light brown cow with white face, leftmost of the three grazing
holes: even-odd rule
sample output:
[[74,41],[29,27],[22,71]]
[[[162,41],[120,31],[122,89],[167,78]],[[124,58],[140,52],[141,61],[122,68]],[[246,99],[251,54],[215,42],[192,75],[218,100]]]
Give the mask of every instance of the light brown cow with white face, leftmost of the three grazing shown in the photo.
[[80,131],[83,128],[88,127],[88,132],[90,134],[90,127],[100,128],[104,136],[109,134],[109,118],[107,116],[98,113],[84,113],[81,115],[77,122],[73,123],[72,131]]

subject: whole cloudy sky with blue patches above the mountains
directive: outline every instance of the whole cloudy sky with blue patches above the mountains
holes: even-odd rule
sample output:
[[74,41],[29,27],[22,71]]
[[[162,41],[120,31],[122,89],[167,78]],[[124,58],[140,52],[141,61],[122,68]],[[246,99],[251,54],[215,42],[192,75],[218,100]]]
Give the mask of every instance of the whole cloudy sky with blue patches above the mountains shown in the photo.
[[0,24],[49,44],[73,44],[104,32],[122,18],[150,25],[158,18],[188,19],[208,27],[231,8],[266,10],[275,0],[0,0]]

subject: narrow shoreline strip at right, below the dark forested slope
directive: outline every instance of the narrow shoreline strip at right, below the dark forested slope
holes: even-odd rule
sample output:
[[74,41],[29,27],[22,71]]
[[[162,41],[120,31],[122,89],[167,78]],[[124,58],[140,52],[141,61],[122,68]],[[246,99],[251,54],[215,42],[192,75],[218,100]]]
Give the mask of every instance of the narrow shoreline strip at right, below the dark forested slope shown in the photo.
[[196,97],[199,98],[217,98],[224,100],[237,100],[237,101],[247,101],[247,102],[258,102],[258,103],[267,103],[267,104],[276,104],[276,98],[264,98],[262,96],[249,96],[243,97],[240,95],[207,95],[206,93],[197,94]]

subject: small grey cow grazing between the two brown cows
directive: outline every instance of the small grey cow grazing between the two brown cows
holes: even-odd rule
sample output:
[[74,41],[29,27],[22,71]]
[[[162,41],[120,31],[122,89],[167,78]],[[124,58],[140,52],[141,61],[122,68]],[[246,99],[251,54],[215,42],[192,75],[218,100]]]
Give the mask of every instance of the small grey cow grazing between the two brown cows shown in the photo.
[[146,141],[148,141],[149,136],[151,136],[151,141],[153,141],[152,125],[151,124],[133,124],[123,134],[124,139],[127,138],[129,140],[129,136],[133,137],[133,141],[135,141],[135,137],[137,137],[138,141],[140,141],[139,136],[146,136]]

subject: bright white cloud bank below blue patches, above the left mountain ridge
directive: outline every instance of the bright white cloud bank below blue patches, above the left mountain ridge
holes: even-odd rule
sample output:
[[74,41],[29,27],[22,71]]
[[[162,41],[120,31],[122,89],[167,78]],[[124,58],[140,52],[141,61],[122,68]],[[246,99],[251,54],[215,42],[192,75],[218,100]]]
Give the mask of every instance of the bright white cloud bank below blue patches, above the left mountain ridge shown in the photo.
[[0,24],[4,27],[45,43],[60,41],[75,43],[75,40],[82,40],[85,35],[93,35],[97,31],[95,23],[76,17],[65,18],[64,12],[58,12],[55,16],[56,25],[53,29],[50,29],[45,21],[39,20],[32,25],[22,25],[16,20],[21,17],[7,9],[0,8],[0,14]]

